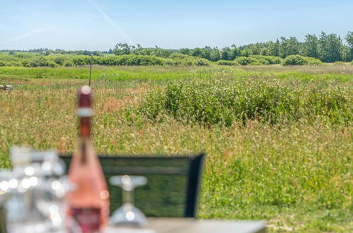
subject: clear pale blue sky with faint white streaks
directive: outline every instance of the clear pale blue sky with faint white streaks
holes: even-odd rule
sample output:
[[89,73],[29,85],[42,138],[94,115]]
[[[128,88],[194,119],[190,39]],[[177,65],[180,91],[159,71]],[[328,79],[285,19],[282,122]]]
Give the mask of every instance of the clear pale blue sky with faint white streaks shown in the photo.
[[352,0],[0,0],[0,49],[226,47],[348,30]]

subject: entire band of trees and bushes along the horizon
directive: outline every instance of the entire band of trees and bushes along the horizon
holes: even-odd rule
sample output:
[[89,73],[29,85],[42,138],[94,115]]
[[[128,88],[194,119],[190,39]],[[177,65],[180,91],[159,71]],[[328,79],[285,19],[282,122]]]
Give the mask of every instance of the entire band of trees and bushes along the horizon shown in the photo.
[[[353,32],[347,33],[345,43],[333,33],[321,32],[319,37],[306,35],[304,42],[299,42],[296,37],[281,37],[276,42],[259,42],[241,47],[233,44],[231,47],[222,49],[209,46],[194,49],[162,49],[157,46],[144,48],[139,44],[134,46],[117,43],[114,49],[106,52],[64,51],[62,49],[32,49],[28,52],[2,50],[0,51],[0,66],[83,66],[90,63],[91,54],[94,56],[93,64],[102,66],[209,66],[212,64],[260,66],[281,64],[287,57],[293,60],[289,63],[318,65],[321,61],[325,63],[352,61]],[[287,64],[288,59],[285,65],[295,65]]]

